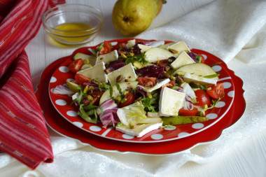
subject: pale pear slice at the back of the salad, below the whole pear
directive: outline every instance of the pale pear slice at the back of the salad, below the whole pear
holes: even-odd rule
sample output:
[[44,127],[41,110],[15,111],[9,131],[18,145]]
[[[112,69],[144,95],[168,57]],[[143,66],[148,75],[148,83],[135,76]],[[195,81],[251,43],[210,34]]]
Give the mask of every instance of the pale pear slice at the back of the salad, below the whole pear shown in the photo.
[[162,48],[151,48],[145,52],[147,62],[158,62],[161,59],[168,59],[169,57],[174,57],[172,52]]

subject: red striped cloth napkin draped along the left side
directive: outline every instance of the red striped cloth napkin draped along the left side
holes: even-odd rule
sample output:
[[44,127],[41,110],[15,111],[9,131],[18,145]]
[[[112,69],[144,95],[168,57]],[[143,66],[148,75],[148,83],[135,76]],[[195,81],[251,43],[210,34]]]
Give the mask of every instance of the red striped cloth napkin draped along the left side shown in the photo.
[[31,169],[53,160],[24,50],[47,8],[48,0],[0,0],[0,151]]

